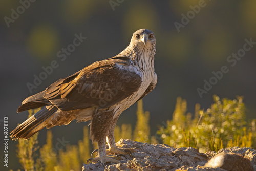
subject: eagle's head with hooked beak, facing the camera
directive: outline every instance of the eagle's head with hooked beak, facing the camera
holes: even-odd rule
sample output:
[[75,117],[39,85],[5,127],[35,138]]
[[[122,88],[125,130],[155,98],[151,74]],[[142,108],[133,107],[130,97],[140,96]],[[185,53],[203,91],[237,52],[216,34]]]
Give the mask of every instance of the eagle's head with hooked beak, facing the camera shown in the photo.
[[137,50],[155,49],[155,34],[147,29],[137,30],[133,33],[130,45],[133,45]]

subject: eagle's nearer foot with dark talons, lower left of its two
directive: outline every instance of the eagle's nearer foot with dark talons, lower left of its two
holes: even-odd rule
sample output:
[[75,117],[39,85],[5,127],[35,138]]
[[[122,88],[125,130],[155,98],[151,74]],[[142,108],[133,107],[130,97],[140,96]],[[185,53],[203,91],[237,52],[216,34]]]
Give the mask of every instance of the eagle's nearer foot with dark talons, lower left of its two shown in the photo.
[[98,161],[100,161],[100,164],[102,166],[110,165],[111,163],[120,163],[120,161],[118,161],[118,160],[120,160],[121,156],[125,157],[127,159],[127,157],[125,155],[118,154],[116,156],[102,156],[102,157],[90,158],[87,160],[87,164],[89,164],[90,161],[92,163],[97,163]]

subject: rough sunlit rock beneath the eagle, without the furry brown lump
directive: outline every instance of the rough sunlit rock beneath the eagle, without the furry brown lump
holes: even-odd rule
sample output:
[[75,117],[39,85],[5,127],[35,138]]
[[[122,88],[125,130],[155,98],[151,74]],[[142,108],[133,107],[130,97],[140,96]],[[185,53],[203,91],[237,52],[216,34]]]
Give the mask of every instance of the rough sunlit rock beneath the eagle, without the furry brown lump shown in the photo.
[[[124,158],[120,160],[121,163],[112,164],[105,168],[99,163],[83,164],[83,171],[98,170],[98,171],[116,171],[116,170],[186,170],[186,171],[226,171],[222,168],[204,167],[208,160],[216,155],[216,152],[207,152],[206,154],[200,153],[197,149],[188,148],[173,148],[166,144],[147,144],[128,139],[121,139],[116,143],[117,146],[123,148],[140,147],[143,151],[132,153],[131,160],[126,161]],[[251,148],[225,148],[218,151],[221,152],[240,154],[247,157],[256,171],[256,151]],[[209,157],[208,157],[209,156]]]

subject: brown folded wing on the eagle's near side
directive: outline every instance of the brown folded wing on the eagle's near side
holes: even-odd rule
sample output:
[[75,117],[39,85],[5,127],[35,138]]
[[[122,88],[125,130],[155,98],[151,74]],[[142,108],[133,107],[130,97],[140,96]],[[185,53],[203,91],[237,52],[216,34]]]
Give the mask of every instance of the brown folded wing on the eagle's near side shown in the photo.
[[45,91],[24,100],[18,112],[49,103],[62,111],[99,106],[109,108],[136,92],[141,76],[129,58],[117,56],[59,79]]

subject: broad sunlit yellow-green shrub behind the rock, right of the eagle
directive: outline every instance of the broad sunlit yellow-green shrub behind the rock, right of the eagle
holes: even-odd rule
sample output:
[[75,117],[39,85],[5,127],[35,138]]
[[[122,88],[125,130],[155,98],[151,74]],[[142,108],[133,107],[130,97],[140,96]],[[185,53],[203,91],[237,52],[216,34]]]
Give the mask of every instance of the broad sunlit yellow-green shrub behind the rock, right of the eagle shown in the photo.
[[242,97],[220,100],[215,95],[214,103],[206,111],[196,104],[194,119],[186,111],[186,101],[178,97],[173,119],[157,132],[164,143],[175,147],[190,146],[201,152],[233,146],[255,147],[252,122],[245,121]]

